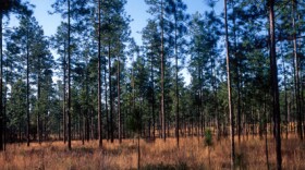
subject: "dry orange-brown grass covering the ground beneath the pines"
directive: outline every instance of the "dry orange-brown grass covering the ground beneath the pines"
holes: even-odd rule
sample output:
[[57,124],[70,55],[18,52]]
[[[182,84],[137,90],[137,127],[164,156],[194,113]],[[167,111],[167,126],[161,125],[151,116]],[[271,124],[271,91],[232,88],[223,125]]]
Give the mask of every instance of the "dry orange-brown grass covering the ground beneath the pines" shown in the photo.
[[[98,149],[97,141],[73,142],[68,150],[63,142],[12,144],[0,154],[1,170],[51,169],[51,170],[95,170],[95,169],[136,169],[137,141],[124,139],[122,144],[103,141]],[[265,139],[248,136],[235,142],[237,169],[267,169]],[[270,169],[276,168],[274,141],[268,137]],[[305,169],[305,143],[294,135],[282,139],[283,169]],[[203,138],[181,138],[176,148],[175,138],[155,142],[141,141],[141,169],[230,169],[230,141],[213,141],[210,148]]]

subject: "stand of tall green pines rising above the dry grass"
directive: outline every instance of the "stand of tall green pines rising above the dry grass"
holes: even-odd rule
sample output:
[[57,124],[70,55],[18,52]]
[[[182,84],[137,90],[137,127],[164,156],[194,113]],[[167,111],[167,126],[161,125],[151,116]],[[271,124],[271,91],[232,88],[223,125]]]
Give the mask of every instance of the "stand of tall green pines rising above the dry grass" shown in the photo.
[[[273,134],[280,169],[281,137],[305,134],[305,3],[224,0],[219,14],[207,0],[190,14],[183,0],[145,0],[139,46],[126,2],[56,0],[62,22],[46,37],[29,3],[1,0],[0,150],[49,139],[102,147],[135,133],[179,147],[210,129],[231,135],[232,166],[235,135]],[[12,14],[20,23],[5,28]]]

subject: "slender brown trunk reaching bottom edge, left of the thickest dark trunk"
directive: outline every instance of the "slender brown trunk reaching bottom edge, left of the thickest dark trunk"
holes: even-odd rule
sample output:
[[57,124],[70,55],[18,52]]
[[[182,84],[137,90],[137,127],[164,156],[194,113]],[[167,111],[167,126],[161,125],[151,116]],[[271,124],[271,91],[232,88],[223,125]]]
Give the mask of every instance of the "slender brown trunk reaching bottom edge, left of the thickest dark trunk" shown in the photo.
[[228,34],[228,14],[227,0],[224,0],[224,24],[225,24],[225,53],[227,53],[227,78],[228,78],[228,98],[229,98],[229,114],[230,114],[230,132],[231,132],[231,169],[234,169],[235,146],[234,146],[234,114],[232,108],[231,96],[231,76],[230,76],[230,56],[229,56],[229,34]]

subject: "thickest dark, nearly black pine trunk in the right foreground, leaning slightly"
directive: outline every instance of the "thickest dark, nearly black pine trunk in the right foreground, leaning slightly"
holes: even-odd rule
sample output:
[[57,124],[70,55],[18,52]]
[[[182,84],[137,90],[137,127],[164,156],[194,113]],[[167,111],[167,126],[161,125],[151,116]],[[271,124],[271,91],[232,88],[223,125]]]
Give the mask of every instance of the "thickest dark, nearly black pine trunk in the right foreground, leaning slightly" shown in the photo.
[[273,97],[273,117],[276,124],[276,153],[277,153],[277,169],[282,169],[281,156],[281,132],[280,132],[280,102],[279,102],[279,85],[278,85],[278,68],[276,52],[276,28],[274,28],[274,0],[268,1],[269,8],[269,29],[270,29],[270,69],[271,69],[271,85]]

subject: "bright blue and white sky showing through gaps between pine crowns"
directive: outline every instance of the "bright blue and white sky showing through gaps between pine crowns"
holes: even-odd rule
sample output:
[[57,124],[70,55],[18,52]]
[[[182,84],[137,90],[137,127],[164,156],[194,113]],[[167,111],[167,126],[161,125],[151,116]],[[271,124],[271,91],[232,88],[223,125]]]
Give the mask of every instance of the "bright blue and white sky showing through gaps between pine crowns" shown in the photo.
[[[187,13],[194,14],[196,12],[204,13],[205,11],[209,11],[210,8],[207,7],[208,0],[185,0],[184,3],[187,5]],[[38,21],[39,25],[42,26],[46,36],[52,36],[57,32],[57,27],[60,25],[62,19],[59,14],[50,15],[48,11],[53,11],[51,4],[54,0],[29,0],[32,4],[35,5],[34,16]],[[222,5],[218,3],[216,7],[217,11],[222,9]],[[146,26],[147,20],[150,15],[147,13],[148,5],[144,0],[127,0],[127,4],[125,7],[126,14],[131,16],[133,20],[130,23],[130,27],[132,31],[131,36],[135,39],[137,45],[142,45],[142,35],[141,31]],[[10,27],[16,26],[17,21],[12,17],[10,21]],[[53,56],[57,57],[57,53],[52,51]],[[187,65],[187,64],[186,64]],[[187,72],[187,68],[184,68],[181,73],[184,76],[184,81],[186,85],[191,83],[191,76]]]

